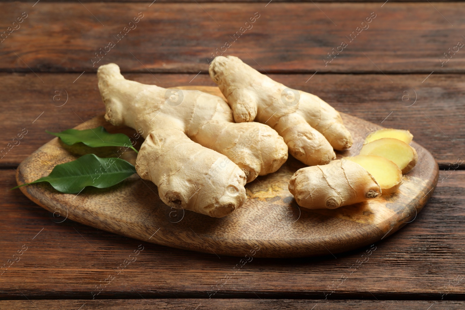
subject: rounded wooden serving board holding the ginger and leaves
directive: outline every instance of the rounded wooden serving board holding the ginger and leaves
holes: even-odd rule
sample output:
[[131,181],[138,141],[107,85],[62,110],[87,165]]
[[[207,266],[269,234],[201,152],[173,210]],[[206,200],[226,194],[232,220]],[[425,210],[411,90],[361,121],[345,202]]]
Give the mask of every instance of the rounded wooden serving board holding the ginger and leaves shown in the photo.
[[[216,87],[188,88],[220,94]],[[338,158],[356,155],[365,137],[382,128],[363,119],[341,115],[354,144],[350,150],[338,152]],[[131,128],[106,123],[103,116],[75,128],[97,126],[130,137],[135,133]],[[138,140],[136,147],[141,143]],[[404,176],[398,191],[391,196],[334,210],[307,210],[296,204],[287,185],[292,174],[305,165],[292,156],[279,171],[247,184],[246,203],[224,218],[170,208],[159,199],[157,187],[137,175],[107,189],[87,187],[78,195],[62,194],[48,183],[20,189],[33,202],[53,212],[57,223],[71,219],[155,244],[219,257],[244,257],[248,253],[255,253],[255,257],[331,255],[386,238],[416,218],[438,182],[438,165],[422,146],[415,142],[412,146],[418,152],[419,161]],[[17,182],[21,185],[46,176],[55,165],[87,152],[101,157],[116,156],[114,148],[67,146],[54,138],[20,164]],[[136,154],[129,149],[122,158],[134,164]]]

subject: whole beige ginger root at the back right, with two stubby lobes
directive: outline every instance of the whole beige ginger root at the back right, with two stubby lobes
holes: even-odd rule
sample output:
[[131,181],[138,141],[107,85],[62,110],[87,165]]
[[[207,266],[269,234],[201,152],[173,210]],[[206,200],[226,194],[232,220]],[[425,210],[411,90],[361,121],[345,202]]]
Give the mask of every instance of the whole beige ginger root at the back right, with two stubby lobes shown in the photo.
[[336,158],[333,148],[351,147],[352,136],[339,112],[319,97],[286,87],[234,56],[213,59],[209,73],[236,122],[271,126],[304,164],[325,165]]

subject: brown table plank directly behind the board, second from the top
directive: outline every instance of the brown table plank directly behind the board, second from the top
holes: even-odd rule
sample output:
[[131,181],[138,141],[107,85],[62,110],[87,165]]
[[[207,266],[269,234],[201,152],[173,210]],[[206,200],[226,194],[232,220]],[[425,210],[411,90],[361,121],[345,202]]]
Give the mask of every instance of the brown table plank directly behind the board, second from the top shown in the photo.
[[[105,112],[94,73],[38,75],[40,79],[33,73],[0,73],[3,104],[7,107],[0,116],[3,133],[0,151],[7,147],[7,153],[1,153],[0,166],[16,167],[52,139],[45,130],[59,132]],[[164,87],[214,85],[207,74],[125,76]],[[382,74],[272,74],[271,77],[287,86],[312,92],[341,112],[384,127],[410,129],[414,140],[430,151],[440,165],[460,162],[465,157],[461,117],[463,75],[394,74],[389,78],[392,83]],[[19,145],[12,146],[18,143],[13,138],[23,129],[27,134]]]

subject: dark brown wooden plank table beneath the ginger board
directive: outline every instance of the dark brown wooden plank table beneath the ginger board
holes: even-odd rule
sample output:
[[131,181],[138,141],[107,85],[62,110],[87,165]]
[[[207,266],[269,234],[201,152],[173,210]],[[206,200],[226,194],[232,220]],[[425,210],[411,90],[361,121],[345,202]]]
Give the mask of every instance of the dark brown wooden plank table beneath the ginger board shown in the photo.
[[[0,275],[0,309],[463,309],[463,2],[34,2],[0,1],[0,263],[27,248]],[[8,191],[15,168],[52,138],[45,130],[104,111],[99,65],[115,62],[126,78],[159,86],[213,86],[208,61],[225,42],[225,54],[341,112],[409,128],[441,169],[432,199],[352,274],[366,249],[256,258],[224,283],[239,258],[142,243],[137,261],[93,299],[141,242],[57,223]]]

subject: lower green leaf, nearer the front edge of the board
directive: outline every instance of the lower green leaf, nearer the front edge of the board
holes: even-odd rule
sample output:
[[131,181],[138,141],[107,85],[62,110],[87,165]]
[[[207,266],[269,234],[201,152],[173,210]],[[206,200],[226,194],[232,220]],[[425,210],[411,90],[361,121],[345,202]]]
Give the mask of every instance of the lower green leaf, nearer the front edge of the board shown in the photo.
[[106,188],[120,183],[136,173],[133,165],[120,158],[100,158],[87,154],[68,163],[56,165],[46,177],[15,188],[39,182],[48,182],[54,189],[66,194],[76,194],[86,186]]

